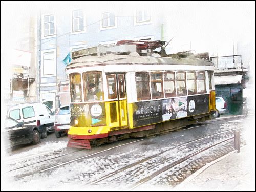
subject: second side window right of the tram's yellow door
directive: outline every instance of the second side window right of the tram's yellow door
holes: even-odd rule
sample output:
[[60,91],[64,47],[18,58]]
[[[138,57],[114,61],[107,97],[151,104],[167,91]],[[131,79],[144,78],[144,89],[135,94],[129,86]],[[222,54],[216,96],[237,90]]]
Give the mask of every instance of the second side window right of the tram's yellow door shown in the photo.
[[152,99],[163,97],[163,73],[152,72],[151,74],[151,95]]

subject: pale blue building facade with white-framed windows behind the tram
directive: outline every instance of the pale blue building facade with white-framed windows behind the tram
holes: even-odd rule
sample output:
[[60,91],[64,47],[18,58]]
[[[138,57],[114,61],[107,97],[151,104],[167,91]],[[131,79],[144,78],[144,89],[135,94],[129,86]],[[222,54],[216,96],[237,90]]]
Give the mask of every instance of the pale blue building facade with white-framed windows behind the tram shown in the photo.
[[[81,4],[84,5],[84,4]],[[72,50],[111,46],[119,40],[161,40],[162,17],[150,10],[133,11],[104,7],[73,5],[62,10],[41,10],[38,15],[38,100],[52,100],[52,111],[58,108],[58,87],[68,77],[63,59]]]

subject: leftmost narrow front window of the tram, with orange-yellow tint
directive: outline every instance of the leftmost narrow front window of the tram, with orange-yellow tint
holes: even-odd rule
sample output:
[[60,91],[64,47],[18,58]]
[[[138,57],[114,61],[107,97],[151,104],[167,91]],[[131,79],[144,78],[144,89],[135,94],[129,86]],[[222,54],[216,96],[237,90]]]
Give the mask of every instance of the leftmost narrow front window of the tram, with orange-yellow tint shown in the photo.
[[80,73],[72,73],[70,78],[70,99],[71,102],[82,102],[82,86]]

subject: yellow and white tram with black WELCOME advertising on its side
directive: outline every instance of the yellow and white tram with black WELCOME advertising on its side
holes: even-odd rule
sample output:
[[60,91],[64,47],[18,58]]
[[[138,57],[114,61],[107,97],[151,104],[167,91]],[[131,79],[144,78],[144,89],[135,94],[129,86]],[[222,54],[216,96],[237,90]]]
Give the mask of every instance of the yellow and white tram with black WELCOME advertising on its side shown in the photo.
[[121,41],[72,52],[75,59],[66,67],[71,96],[67,146],[90,149],[211,118],[213,63],[191,53],[153,51],[162,45]]

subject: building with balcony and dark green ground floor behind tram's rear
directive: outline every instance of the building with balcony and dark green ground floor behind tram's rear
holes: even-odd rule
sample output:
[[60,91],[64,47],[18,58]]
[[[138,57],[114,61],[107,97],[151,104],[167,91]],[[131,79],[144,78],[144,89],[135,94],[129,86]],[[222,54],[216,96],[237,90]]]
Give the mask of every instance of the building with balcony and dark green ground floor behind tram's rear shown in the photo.
[[242,55],[210,57],[215,65],[215,91],[227,102],[230,114],[244,114],[243,89],[248,81],[248,68],[243,66]]

